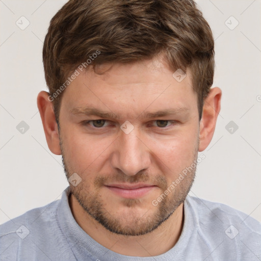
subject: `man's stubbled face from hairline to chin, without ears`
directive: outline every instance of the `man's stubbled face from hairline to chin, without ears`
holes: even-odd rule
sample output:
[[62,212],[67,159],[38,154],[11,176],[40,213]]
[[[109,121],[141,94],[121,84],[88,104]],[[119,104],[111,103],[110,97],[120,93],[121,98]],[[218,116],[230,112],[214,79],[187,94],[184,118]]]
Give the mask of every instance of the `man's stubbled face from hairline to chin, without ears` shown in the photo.
[[64,169],[81,177],[70,190],[88,215],[112,232],[137,236],[168,219],[192,186],[197,95],[190,71],[178,82],[160,58],[100,69],[109,70],[89,69],[64,91]]

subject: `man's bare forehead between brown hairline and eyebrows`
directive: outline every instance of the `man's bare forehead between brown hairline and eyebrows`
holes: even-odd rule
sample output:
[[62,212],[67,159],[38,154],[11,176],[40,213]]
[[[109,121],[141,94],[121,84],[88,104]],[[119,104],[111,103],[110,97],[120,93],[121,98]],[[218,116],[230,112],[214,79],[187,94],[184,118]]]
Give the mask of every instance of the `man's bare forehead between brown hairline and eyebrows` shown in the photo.
[[152,112],[153,108],[159,111],[197,106],[190,70],[177,77],[178,72],[171,70],[164,60],[104,64],[96,72],[93,69],[81,72],[67,87],[62,103],[69,111],[91,106],[140,115]]

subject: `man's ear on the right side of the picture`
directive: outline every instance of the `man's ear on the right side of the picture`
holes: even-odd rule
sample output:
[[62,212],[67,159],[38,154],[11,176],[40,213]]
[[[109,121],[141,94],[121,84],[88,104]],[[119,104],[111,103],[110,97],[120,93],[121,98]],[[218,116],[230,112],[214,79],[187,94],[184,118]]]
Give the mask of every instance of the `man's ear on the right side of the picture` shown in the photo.
[[210,90],[210,93],[204,100],[202,118],[200,120],[198,151],[203,151],[212,140],[220,112],[221,95],[220,88],[215,87]]

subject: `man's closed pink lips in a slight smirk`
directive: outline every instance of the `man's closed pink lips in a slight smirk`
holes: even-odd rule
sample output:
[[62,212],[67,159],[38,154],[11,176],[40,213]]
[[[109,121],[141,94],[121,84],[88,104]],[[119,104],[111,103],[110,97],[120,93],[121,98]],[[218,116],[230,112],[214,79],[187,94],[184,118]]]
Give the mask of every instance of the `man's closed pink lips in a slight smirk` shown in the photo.
[[123,198],[141,198],[157,186],[150,184],[110,184],[105,185],[114,194]]

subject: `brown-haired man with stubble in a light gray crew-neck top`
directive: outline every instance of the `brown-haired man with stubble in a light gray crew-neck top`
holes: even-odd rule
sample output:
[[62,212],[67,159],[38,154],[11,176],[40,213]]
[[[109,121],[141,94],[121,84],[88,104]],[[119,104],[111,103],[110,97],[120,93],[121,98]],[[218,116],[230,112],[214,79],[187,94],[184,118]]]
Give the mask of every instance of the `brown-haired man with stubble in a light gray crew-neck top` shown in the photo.
[[37,105],[69,188],[0,226],[1,259],[261,259],[259,222],[188,196],[221,100],[193,1],[69,1],[43,63]]

